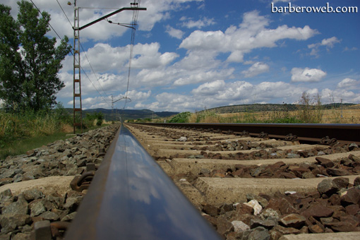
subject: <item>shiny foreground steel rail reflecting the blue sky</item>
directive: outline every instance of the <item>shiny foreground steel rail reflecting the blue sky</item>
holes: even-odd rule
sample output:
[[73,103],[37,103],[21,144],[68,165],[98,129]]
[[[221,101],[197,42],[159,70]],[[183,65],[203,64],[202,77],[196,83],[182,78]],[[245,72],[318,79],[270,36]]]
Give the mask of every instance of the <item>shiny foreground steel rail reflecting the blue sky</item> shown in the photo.
[[220,239],[123,125],[65,239]]

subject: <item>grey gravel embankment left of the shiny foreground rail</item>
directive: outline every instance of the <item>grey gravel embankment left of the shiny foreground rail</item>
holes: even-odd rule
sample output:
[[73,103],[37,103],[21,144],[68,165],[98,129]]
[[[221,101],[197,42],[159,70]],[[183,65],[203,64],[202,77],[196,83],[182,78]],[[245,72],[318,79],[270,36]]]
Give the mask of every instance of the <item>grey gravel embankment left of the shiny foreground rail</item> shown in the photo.
[[84,193],[71,190],[70,181],[86,164],[102,162],[118,128],[98,128],[0,160],[0,239],[30,239],[36,222],[44,220],[71,222]]

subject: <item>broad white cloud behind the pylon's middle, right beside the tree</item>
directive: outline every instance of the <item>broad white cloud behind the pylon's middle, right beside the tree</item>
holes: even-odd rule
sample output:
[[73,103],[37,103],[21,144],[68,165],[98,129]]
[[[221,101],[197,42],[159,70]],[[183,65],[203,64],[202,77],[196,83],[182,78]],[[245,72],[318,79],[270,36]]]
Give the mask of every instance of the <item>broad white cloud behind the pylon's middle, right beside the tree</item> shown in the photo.
[[[131,88],[149,89],[154,86],[167,85],[174,79],[174,76],[171,75],[174,72],[165,70],[179,55],[174,52],[161,53],[159,51],[160,44],[157,42],[136,44],[133,47]],[[84,53],[81,53],[81,66],[87,73],[87,76],[81,75],[83,96],[91,93],[97,94],[97,91],[104,95],[102,89],[105,92],[110,92],[108,94],[124,89],[128,80],[129,45],[112,47],[109,44],[99,43],[89,48],[85,54],[96,74],[93,74],[88,59],[85,58]],[[59,76],[66,83],[66,87],[59,92],[58,96],[70,97],[73,92],[73,57],[67,56],[63,65]]]

